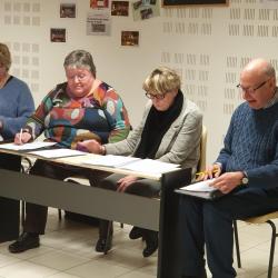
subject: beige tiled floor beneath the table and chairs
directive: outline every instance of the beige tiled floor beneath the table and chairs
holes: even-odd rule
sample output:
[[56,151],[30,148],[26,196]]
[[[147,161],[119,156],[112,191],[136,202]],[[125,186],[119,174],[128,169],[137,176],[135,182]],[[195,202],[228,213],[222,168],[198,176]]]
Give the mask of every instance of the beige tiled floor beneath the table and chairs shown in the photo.
[[[277,222],[278,224],[278,222]],[[141,255],[141,240],[128,239],[130,226],[115,224],[113,248],[108,255],[93,250],[96,227],[62,219],[50,209],[41,247],[19,255],[0,245],[0,278],[155,278],[157,254]],[[267,277],[270,228],[268,225],[239,224],[242,268],[238,277]],[[277,250],[278,252],[278,250]],[[278,255],[272,277],[278,277]],[[171,277],[169,277],[171,278]]]

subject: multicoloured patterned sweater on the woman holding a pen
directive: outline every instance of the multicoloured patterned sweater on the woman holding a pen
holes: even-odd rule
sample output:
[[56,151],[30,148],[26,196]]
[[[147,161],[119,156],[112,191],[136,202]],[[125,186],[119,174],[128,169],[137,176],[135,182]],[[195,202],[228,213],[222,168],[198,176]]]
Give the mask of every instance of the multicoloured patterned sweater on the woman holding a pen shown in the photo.
[[109,85],[101,82],[91,95],[75,100],[64,82],[48,93],[24,129],[33,139],[44,131],[47,140],[75,149],[78,141],[88,139],[120,141],[128,136],[130,123],[122,100]]

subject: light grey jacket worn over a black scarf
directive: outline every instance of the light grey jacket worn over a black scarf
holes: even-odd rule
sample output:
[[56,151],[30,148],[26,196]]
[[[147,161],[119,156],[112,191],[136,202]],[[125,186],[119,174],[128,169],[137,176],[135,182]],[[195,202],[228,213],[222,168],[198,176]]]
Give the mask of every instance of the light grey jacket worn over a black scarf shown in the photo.
[[[127,139],[105,145],[107,155],[132,156],[135,153],[151,106],[152,102],[148,101],[141,123],[129,133]],[[192,168],[195,172],[200,157],[201,128],[202,115],[199,108],[183,97],[182,110],[165,133],[155,159],[179,163],[182,168]]]

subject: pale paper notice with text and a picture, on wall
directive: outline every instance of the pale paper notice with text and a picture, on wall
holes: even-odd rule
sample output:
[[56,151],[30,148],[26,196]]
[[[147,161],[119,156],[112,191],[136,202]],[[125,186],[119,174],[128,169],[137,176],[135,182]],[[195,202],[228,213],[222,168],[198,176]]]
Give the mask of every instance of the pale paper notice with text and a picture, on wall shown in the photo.
[[87,14],[87,34],[109,36],[111,30],[111,17],[108,12],[98,10]]

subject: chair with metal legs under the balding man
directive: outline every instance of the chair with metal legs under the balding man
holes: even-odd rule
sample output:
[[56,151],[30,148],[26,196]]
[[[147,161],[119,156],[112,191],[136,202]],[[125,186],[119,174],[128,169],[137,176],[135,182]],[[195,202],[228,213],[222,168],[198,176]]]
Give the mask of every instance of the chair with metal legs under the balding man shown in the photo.
[[[276,232],[276,225],[272,221],[272,219],[276,219],[276,218],[278,218],[278,211],[267,214],[267,215],[264,215],[264,216],[247,218],[247,219],[244,219],[244,220],[240,219],[241,221],[245,221],[247,224],[257,224],[257,225],[259,225],[259,224],[269,224],[271,229],[272,229],[267,278],[272,277],[275,244],[276,244],[276,238],[278,237],[278,234]],[[234,221],[234,235],[235,235],[235,245],[236,245],[236,254],[237,254],[238,267],[241,268],[240,251],[239,251],[239,240],[238,240],[238,229],[237,229],[237,221],[236,220]]]

